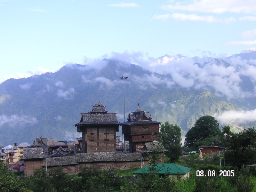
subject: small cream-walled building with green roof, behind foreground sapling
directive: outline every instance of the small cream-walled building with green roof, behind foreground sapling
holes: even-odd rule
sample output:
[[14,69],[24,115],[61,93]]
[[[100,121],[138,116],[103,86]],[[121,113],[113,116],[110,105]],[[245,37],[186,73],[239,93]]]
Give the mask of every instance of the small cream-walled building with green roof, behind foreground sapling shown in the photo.
[[[149,166],[150,165],[147,165],[133,173],[135,174],[135,176],[137,176],[137,178],[140,178],[142,177],[143,174],[148,173]],[[184,167],[174,163],[156,164],[156,169],[158,170],[157,173],[159,174],[159,177],[169,175],[169,177],[174,177],[175,180],[177,180],[178,174],[181,175],[182,179],[184,179],[185,177],[189,177],[189,171],[191,170],[191,168]]]

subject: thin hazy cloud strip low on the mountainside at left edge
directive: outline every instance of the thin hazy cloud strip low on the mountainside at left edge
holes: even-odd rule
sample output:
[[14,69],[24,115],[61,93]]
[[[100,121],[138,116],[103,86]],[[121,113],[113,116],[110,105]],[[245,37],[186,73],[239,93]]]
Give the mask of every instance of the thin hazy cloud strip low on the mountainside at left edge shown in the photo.
[[38,120],[32,116],[18,116],[18,115],[1,115],[0,116],[0,127],[9,126],[9,127],[24,127],[26,125],[35,125]]

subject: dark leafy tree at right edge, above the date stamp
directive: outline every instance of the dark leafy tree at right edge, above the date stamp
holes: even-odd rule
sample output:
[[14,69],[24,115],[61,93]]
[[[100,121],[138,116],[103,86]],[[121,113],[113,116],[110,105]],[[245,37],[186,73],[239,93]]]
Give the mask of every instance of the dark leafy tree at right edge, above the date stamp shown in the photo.
[[256,131],[254,127],[233,133],[229,126],[223,127],[226,133],[225,162],[228,165],[241,168],[242,165],[256,164]]

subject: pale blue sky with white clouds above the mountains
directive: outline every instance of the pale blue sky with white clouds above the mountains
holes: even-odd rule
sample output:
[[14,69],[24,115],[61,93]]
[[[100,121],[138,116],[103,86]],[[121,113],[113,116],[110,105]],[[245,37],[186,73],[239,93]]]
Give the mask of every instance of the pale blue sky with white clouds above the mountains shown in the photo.
[[219,57],[256,47],[255,0],[0,0],[0,16],[0,83],[117,54]]

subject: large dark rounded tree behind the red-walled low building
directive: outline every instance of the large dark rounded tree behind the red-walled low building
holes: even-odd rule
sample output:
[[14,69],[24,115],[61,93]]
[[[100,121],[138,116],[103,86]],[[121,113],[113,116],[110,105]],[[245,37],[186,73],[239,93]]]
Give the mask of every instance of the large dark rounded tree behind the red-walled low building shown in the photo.
[[195,142],[217,135],[222,135],[218,121],[213,116],[202,116],[196,121],[194,127],[187,132],[184,146],[192,147]]

